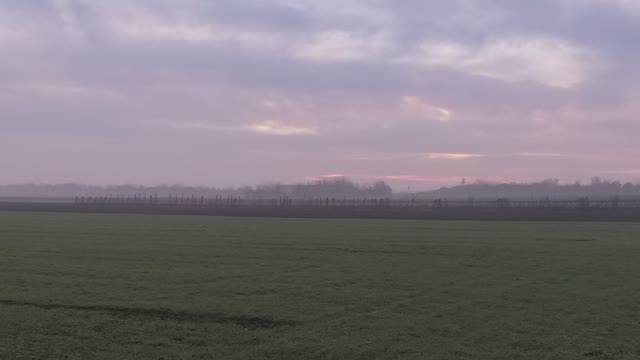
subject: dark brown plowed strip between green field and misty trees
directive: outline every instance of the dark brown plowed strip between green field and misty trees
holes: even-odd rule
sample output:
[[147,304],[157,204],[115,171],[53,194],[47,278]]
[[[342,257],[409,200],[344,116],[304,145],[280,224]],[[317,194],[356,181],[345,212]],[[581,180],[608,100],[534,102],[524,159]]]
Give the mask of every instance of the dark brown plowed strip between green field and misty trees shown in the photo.
[[375,208],[375,207],[202,207],[0,202],[0,212],[57,212],[320,219],[390,219],[453,221],[640,222],[635,208]]

